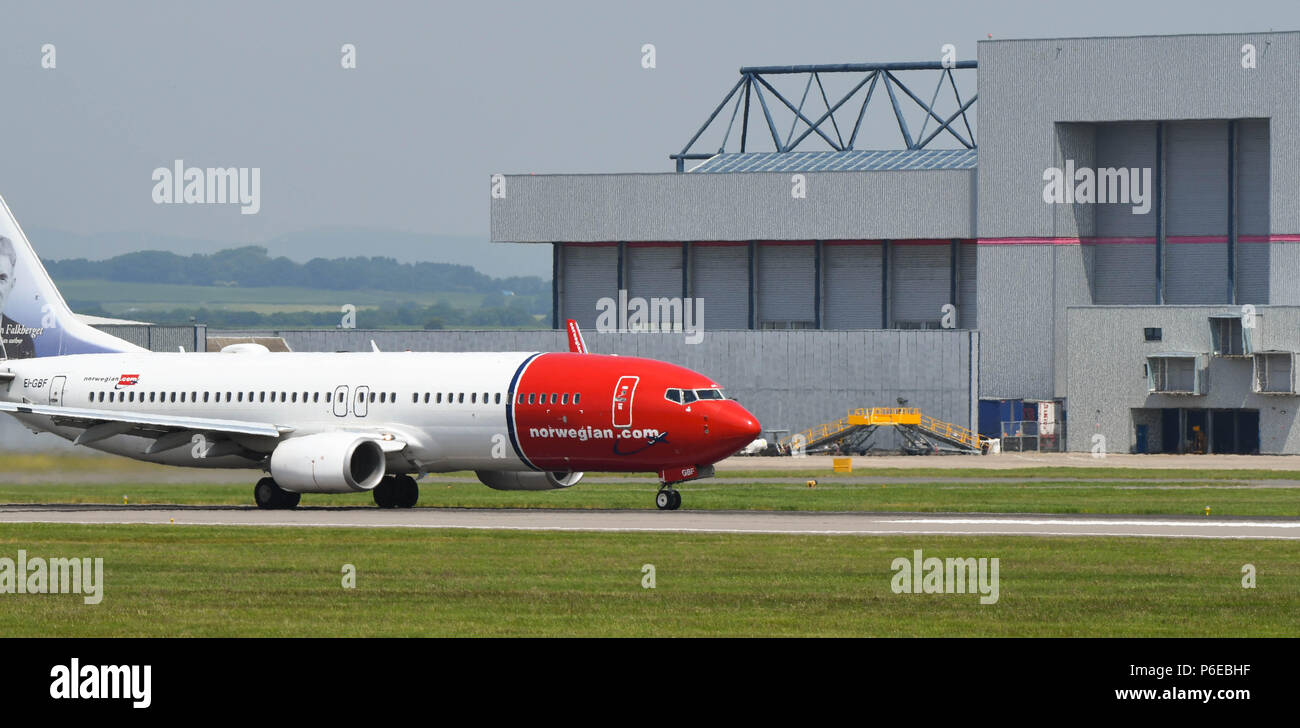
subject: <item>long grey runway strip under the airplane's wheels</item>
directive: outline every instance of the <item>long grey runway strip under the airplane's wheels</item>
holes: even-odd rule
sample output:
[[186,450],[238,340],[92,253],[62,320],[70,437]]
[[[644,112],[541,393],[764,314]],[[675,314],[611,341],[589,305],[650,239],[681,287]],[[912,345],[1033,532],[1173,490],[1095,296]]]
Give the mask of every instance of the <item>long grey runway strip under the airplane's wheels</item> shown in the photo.
[[[0,506],[4,523],[174,524],[334,528],[452,528],[567,532],[770,533],[802,536],[1082,536],[1300,541],[1300,519],[1162,516],[846,514],[759,511],[566,511],[506,508],[244,506]],[[0,526],[3,528],[3,526]]]

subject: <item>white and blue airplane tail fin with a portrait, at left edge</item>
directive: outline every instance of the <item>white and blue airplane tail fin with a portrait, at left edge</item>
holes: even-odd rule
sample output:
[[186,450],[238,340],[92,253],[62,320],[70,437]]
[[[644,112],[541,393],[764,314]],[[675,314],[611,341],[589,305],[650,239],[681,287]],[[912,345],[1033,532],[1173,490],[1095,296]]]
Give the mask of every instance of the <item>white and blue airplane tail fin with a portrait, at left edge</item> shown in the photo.
[[144,351],[68,308],[18,221],[0,198],[0,359]]

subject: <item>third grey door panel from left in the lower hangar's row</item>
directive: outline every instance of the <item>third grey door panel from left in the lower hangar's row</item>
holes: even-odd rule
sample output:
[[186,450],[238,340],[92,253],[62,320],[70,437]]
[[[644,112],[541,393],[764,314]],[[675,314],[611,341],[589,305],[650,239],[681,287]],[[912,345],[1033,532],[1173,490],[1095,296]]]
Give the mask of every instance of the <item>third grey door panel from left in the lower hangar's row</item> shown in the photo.
[[690,295],[705,329],[749,328],[749,244],[693,243]]

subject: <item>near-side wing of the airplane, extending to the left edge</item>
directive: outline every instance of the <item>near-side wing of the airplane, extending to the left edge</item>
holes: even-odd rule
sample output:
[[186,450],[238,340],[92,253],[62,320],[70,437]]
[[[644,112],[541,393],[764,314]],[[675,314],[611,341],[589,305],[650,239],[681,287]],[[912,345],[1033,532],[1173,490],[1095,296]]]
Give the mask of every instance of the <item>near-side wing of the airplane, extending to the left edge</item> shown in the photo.
[[[113,410],[87,410],[81,407],[60,407],[55,404],[26,404],[0,402],[0,412],[16,415],[42,415],[53,417],[56,425],[84,428],[74,445],[90,445],[117,434],[136,434],[153,437],[156,442],[151,452],[177,447],[188,441],[188,433],[248,434],[278,438],[294,432],[294,428],[269,422],[250,422],[243,420],[218,420],[209,417],[179,417],[174,415],[155,415],[148,412],[120,412]],[[177,438],[185,434],[183,438]],[[165,443],[165,445],[164,445]],[[164,445],[162,447],[157,447]]]

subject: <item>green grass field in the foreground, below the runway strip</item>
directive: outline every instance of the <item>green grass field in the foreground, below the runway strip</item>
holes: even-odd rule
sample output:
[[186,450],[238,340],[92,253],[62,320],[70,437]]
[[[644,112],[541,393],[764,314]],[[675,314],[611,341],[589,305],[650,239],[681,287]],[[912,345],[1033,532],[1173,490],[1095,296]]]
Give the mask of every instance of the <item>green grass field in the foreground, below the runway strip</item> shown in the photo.
[[[104,598],[0,595],[5,636],[1296,636],[1300,597],[1275,541],[5,525],[18,549],[103,558]],[[892,593],[913,549],[998,558],[998,601]]]

